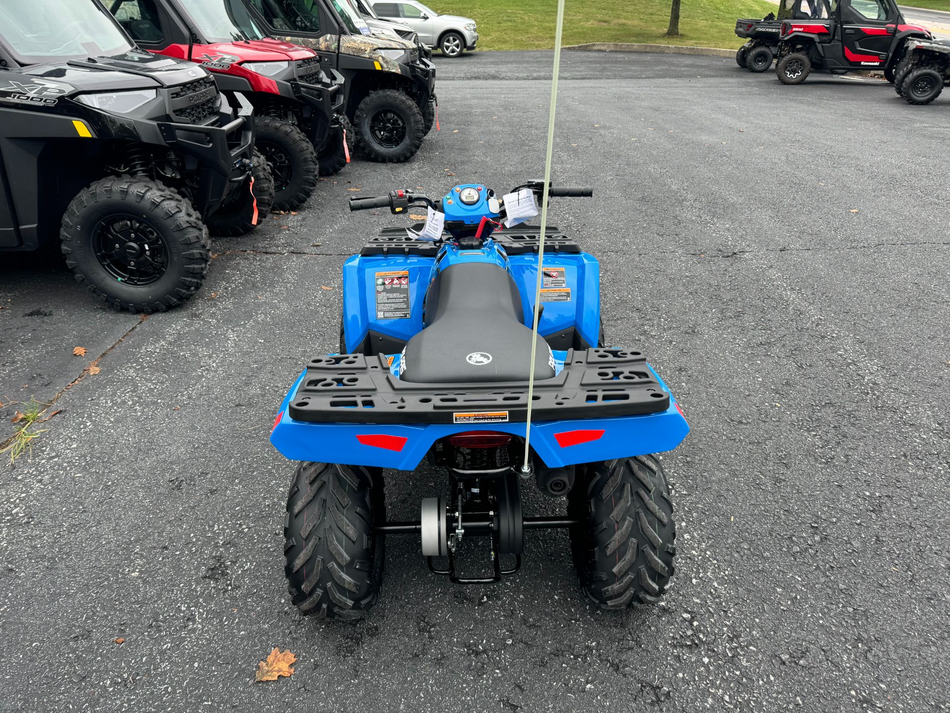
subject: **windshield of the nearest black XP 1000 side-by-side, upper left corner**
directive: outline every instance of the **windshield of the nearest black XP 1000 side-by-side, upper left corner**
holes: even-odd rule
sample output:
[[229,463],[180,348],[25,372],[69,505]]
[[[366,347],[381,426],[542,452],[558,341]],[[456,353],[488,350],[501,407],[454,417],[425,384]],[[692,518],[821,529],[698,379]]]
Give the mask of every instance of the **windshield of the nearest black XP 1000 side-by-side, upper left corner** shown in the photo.
[[0,41],[23,65],[112,57],[132,48],[96,0],[0,1]]

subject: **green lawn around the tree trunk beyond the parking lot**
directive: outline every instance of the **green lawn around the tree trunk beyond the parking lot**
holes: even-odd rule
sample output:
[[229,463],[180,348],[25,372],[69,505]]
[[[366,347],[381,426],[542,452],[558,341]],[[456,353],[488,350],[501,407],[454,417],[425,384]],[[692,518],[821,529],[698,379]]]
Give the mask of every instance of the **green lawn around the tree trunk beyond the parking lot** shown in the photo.
[[[950,0],[929,0],[947,3]],[[481,49],[554,47],[556,0],[433,0],[433,10],[464,15],[478,23]],[[765,0],[682,0],[678,37],[667,37],[670,0],[566,0],[564,44],[646,42],[660,45],[738,48],[739,17],[776,10]]]

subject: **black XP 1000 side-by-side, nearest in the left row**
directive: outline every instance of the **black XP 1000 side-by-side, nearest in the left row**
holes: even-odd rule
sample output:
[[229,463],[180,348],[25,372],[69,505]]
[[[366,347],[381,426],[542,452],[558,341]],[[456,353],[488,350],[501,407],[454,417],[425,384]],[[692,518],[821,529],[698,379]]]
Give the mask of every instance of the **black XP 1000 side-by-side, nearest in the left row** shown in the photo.
[[0,4],[0,251],[58,234],[113,307],[189,299],[205,225],[250,230],[273,197],[253,108],[236,100],[199,65],[135,48],[95,0]]

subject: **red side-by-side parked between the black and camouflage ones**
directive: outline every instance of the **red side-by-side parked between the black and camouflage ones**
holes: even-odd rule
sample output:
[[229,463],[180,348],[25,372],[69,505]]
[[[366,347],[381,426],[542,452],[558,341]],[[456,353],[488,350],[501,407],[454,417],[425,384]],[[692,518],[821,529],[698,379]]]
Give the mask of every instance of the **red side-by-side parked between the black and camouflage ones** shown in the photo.
[[277,208],[303,205],[318,175],[346,165],[343,78],[329,78],[312,50],[268,38],[241,0],[103,2],[142,48],[202,63],[227,96],[240,92],[254,105]]

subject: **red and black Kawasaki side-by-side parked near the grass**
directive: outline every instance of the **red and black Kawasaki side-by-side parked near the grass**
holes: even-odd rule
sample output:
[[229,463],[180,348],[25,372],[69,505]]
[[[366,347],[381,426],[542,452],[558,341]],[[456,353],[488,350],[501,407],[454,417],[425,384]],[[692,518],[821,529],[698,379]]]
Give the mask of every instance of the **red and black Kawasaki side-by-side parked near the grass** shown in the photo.
[[834,0],[829,10],[823,18],[782,21],[775,73],[783,84],[801,84],[815,69],[883,69],[893,82],[906,41],[933,39],[928,29],[907,25],[894,0]]

